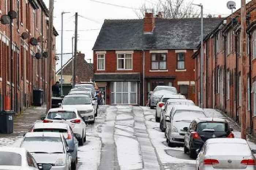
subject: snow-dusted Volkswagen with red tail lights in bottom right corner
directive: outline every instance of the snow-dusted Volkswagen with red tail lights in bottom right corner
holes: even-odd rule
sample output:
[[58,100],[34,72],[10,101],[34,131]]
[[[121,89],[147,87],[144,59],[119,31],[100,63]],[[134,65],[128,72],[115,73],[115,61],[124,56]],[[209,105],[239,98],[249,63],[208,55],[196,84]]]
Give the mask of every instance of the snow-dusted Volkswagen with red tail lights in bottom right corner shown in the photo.
[[208,139],[202,150],[197,150],[196,170],[254,170],[255,150],[244,139]]

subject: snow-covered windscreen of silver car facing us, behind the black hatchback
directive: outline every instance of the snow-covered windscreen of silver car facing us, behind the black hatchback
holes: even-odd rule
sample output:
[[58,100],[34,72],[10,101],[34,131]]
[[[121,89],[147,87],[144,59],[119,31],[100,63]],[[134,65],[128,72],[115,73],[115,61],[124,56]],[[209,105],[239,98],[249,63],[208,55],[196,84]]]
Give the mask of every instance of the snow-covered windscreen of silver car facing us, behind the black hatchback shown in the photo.
[[201,111],[195,110],[176,110],[173,115],[173,120],[193,120],[194,118],[206,117]]

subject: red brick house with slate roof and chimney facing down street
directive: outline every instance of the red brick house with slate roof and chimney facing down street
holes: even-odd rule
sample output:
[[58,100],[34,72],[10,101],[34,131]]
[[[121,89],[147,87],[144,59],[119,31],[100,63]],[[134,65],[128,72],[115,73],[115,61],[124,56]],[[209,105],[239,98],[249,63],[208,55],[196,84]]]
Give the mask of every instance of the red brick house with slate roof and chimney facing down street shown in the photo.
[[[161,15],[158,15],[161,16]],[[222,18],[206,18],[207,35]],[[174,86],[194,100],[191,58],[200,42],[200,19],[105,20],[93,47],[94,80],[106,104],[145,105],[157,85]]]

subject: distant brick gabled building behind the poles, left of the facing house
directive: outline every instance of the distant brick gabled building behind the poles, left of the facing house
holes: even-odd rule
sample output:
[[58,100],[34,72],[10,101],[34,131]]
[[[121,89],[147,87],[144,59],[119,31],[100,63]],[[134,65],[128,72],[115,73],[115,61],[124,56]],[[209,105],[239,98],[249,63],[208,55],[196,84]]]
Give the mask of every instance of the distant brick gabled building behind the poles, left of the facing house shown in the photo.
[[[79,52],[76,56],[76,75],[75,75],[75,81],[77,83],[79,82],[89,82],[90,80],[93,80],[93,64],[87,63],[87,61],[84,59],[84,54]],[[63,65],[62,70],[62,79],[63,79],[63,86],[65,88],[70,89],[73,83],[72,79],[72,58],[70,58],[67,63]],[[61,82],[61,69],[59,69],[56,72],[56,81]],[[63,90],[65,91],[65,90]],[[65,95],[65,92],[63,92]]]

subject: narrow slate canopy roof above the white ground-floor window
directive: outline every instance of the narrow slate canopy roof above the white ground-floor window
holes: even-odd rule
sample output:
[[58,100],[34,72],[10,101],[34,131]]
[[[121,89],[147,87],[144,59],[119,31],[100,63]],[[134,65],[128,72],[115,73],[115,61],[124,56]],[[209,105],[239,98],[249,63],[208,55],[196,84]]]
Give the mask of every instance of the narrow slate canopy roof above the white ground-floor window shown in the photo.
[[94,74],[94,81],[96,82],[129,82],[129,81],[140,81],[140,73],[96,73]]

